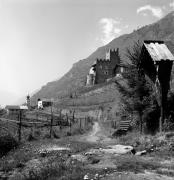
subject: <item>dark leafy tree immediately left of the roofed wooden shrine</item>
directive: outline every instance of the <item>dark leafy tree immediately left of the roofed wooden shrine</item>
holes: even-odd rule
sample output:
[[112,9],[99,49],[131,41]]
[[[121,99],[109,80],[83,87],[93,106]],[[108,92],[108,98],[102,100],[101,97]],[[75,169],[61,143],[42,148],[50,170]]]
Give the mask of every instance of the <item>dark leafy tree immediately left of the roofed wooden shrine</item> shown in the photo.
[[141,43],[136,42],[131,49],[126,50],[129,60],[122,79],[116,80],[116,86],[121,93],[124,111],[128,114],[136,112],[139,116],[140,132],[143,130],[143,112],[151,104],[152,88],[141,68]]

